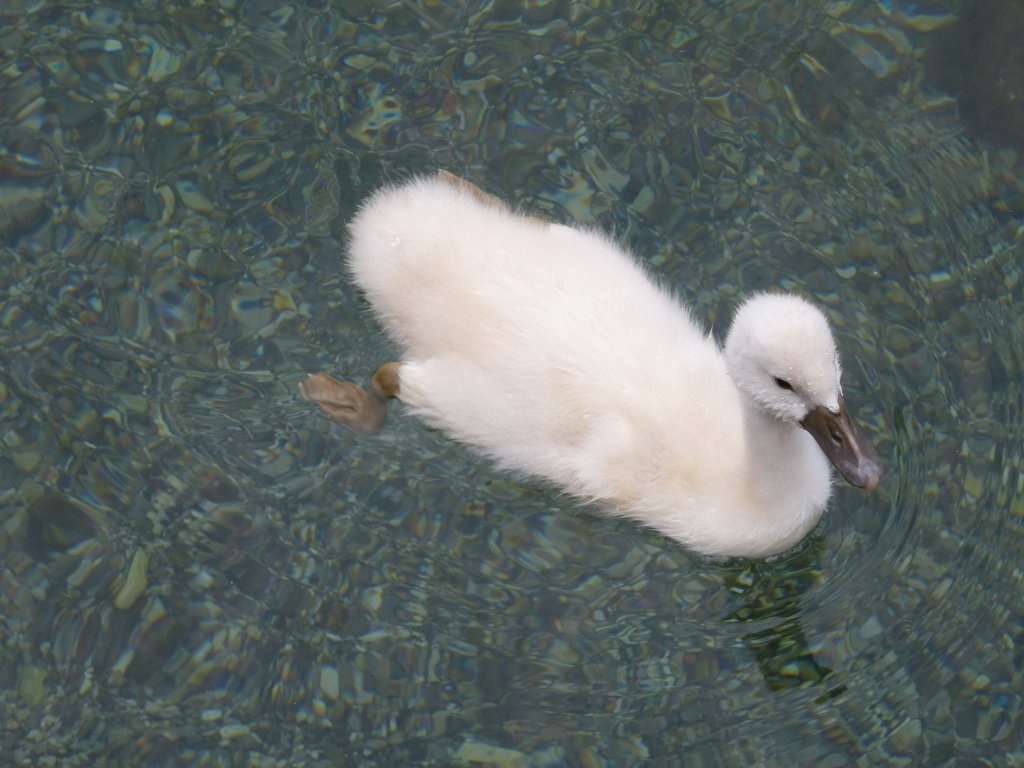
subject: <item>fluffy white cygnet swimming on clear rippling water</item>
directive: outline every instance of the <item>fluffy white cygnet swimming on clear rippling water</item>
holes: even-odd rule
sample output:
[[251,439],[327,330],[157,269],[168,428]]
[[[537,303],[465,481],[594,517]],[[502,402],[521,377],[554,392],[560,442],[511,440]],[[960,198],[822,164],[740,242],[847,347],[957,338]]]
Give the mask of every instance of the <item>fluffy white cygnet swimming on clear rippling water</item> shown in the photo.
[[[606,236],[445,173],[371,197],[349,267],[403,350],[384,394],[501,467],[697,552],[798,543],[828,502],[828,459],[858,486],[880,481],[828,324],[801,298],[751,298],[722,349]],[[342,400],[362,394],[318,376],[348,388]],[[325,404],[315,378],[303,394],[357,421]]]

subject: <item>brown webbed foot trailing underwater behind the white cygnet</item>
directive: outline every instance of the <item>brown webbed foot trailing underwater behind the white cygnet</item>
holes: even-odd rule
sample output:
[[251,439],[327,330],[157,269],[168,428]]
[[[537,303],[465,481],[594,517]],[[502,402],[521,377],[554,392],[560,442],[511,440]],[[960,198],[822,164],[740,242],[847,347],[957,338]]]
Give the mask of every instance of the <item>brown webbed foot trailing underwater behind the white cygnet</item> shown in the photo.
[[362,389],[350,381],[313,374],[299,383],[299,394],[332,419],[365,434],[377,434],[387,416],[387,401],[398,396],[398,362],[385,362]]

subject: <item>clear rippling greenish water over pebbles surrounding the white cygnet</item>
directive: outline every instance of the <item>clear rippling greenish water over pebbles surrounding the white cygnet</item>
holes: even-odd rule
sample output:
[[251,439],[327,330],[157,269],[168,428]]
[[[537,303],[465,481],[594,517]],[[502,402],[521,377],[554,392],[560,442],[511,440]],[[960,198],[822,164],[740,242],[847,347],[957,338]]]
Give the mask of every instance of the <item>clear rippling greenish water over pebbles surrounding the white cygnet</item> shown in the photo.
[[[0,11],[13,763],[1019,760],[1024,168],[926,68],[957,19],[603,5]],[[719,333],[814,296],[881,490],[707,561],[317,417],[306,372],[388,357],[344,221],[437,166],[614,231]]]

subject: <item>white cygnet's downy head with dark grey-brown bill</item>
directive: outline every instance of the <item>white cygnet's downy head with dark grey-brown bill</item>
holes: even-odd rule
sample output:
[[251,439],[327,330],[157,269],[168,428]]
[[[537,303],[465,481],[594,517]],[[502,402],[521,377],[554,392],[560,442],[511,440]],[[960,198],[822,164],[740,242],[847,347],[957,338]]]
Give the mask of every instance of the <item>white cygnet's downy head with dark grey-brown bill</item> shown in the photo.
[[817,307],[798,296],[754,296],[736,312],[725,357],[758,410],[806,429],[852,485],[878,486],[882,462],[847,413],[836,341]]

